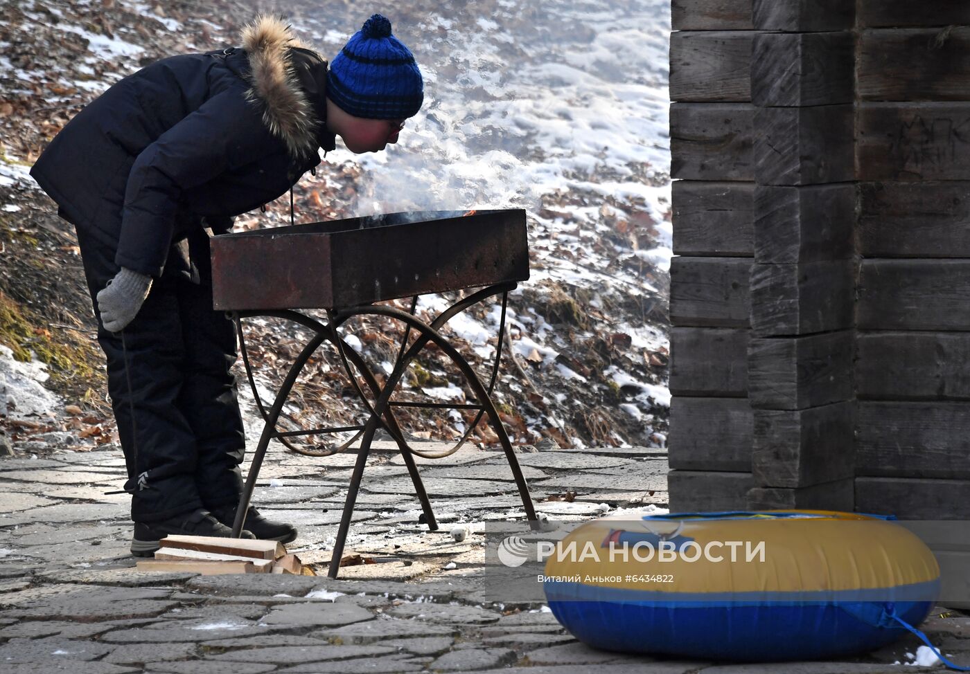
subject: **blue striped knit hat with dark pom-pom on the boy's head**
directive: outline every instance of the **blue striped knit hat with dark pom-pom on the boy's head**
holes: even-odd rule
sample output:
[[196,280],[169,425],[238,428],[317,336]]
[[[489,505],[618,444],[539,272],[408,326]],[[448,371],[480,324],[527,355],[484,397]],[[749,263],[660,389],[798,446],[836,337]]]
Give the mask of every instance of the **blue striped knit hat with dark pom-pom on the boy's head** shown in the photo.
[[344,112],[369,119],[405,119],[421,109],[421,71],[384,16],[372,15],[331,61],[327,96]]

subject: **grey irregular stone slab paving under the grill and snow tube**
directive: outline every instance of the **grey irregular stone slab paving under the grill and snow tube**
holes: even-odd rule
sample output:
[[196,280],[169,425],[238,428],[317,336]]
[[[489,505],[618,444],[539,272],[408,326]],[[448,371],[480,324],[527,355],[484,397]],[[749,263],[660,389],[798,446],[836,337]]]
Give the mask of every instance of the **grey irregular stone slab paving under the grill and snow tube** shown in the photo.
[[[473,531],[455,525],[524,518],[504,455],[473,446],[418,459],[438,532],[419,523],[400,455],[369,460],[345,553],[396,561],[326,563],[354,456],[271,451],[254,503],[300,528],[291,552],[319,575],[145,573],[128,552],[128,497],[116,448],[0,459],[0,672],[261,674],[262,672],[627,672],[839,674],[898,672],[920,642],[903,639],[846,662],[725,664],[628,656],[576,641],[535,597],[508,597],[483,566]],[[520,454],[536,509],[587,520],[616,508],[664,507],[657,449]],[[562,498],[575,492],[571,501]],[[548,500],[552,497],[552,500]],[[560,500],[555,500],[559,498]],[[608,507],[607,507],[608,506]],[[942,610],[942,609],[941,609]],[[970,618],[925,626],[970,661]]]

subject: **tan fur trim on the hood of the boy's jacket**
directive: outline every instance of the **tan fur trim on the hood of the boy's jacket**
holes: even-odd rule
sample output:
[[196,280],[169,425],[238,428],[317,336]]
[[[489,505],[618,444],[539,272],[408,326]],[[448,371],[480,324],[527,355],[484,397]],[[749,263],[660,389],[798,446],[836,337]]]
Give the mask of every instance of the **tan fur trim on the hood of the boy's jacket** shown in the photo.
[[319,56],[275,16],[259,15],[242,29],[242,48],[249,59],[252,84],[246,97],[263,104],[267,128],[286,143],[292,156],[300,157],[315,152],[319,142],[316,114],[293,68],[291,47]]

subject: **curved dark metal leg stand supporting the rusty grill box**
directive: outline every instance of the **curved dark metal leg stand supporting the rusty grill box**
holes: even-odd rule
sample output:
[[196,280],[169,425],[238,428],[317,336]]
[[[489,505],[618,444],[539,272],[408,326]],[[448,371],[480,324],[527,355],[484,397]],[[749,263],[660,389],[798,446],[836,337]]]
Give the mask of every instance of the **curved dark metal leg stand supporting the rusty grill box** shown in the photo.
[[[340,567],[340,558],[343,556],[343,545],[346,541],[347,532],[350,529],[350,519],[353,515],[354,504],[357,501],[357,494],[360,491],[361,479],[364,476],[364,468],[367,465],[368,454],[371,451],[371,444],[373,441],[374,433],[376,433],[378,426],[384,428],[387,433],[395,440],[398,447],[401,449],[402,457],[404,458],[404,464],[407,467],[407,473],[411,476],[411,481],[414,483],[414,490],[417,494],[418,500],[421,502],[421,508],[424,510],[424,515],[428,523],[429,531],[437,531],[437,522],[435,519],[435,513],[432,511],[431,502],[428,500],[428,494],[425,491],[424,484],[421,482],[421,476],[418,474],[417,465],[414,462],[414,455],[427,457],[427,458],[440,458],[443,456],[448,456],[458,451],[459,447],[469,438],[469,434],[478,424],[482,415],[487,415],[489,423],[495,434],[499,437],[499,442],[501,443],[502,449],[505,451],[505,457],[508,459],[508,465],[512,470],[512,475],[515,477],[516,486],[519,489],[519,495],[522,497],[522,505],[525,507],[526,516],[529,519],[533,528],[537,527],[538,521],[535,516],[535,509],[533,507],[532,498],[529,495],[529,486],[526,484],[526,479],[522,475],[522,469],[519,467],[519,462],[515,458],[515,452],[512,450],[512,444],[508,440],[508,435],[505,433],[505,429],[501,424],[501,419],[499,418],[499,413],[495,409],[495,405],[492,403],[491,393],[495,386],[496,379],[499,374],[499,364],[501,361],[501,348],[502,348],[502,338],[504,335],[505,327],[505,308],[508,299],[508,291],[514,289],[516,284],[514,283],[504,283],[495,286],[490,286],[481,291],[477,291],[468,297],[459,300],[455,304],[448,307],[445,311],[441,312],[437,318],[431,322],[423,322],[414,316],[414,309],[417,305],[417,297],[414,298],[411,304],[411,313],[401,311],[400,309],[395,309],[393,307],[387,306],[377,306],[377,305],[363,305],[356,307],[348,307],[345,309],[339,309],[336,311],[328,311],[328,322],[322,323],[308,317],[305,314],[301,314],[297,311],[285,310],[285,311],[239,311],[231,312],[230,316],[236,322],[236,328],[239,333],[240,338],[240,351],[242,352],[242,361],[245,365],[246,376],[249,380],[249,385],[252,388],[253,396],[256,400],[256,405],[259,408],[260,414],[263,416],[264,426],[263,433],[260,436],[259,444],[256,446],[256,451],[252,457],[252,464],[249,468],[249,474],[246,476],[245,486],[242,490],[242,497],[240,499],[239,509],[236,511],[236,520],[233,523],[233,536],[239,537],[242,533],[242,527],[245,523],[246,511],[249,508],[249,502],[252,499],[253,488],[256,485],[256,479],[259,476],[259,470],[263,465],[263,457],[266,455],[266,449],[270,444],[271,440],[279,440],[283,444],[293,448],[292,444],[289,444],[287,440],[294,436],[306,436],[306,435],[318,435],[326,433],[337,433],[341,431],[357,431],[357,434],[351,438],[346,443],[339,445],[331,453],[336,453],[346,449],[350,444],[352,444],[357,438],[361,438],[360,450],[357,454],[357,462],[354,465],[353,474],[350,477],[350,485],[347,490],[347,498],[343,504],[343,514],[340,518],[340,526],[337,534],[337,542],[334,545],[334,552],[330,560],[330,568],[328,570],[328,575],[331,578],[337,578]],[[451,344],[448,343],[438,330],[444,323],[448,322],[452,317],[465,311],[473,304],[481,302],[488,297],[492,297],[501,292],[501,322],[499,326],[499,344],[496,349],[495,365],[492,369],[492,377],[489,385],[486,387],[478,379],[474,370],[469,365],[469,362],[462,356],[457,349],[455,349]],[[383,388],[377,383],[372,371],[367,366],[364,358],[360,353],[355,352],[343,339],[339,337],[337,332],[339,326],[356,316],[387,316],[398,321],[404,322],[406,329],[404,331],[404,338],[401,342],[401,350],[398,352],[398,359],[395,363],[394,369],[391,374],[387,377]],[[256,390],[256,383],[253,380],[252,370],[249,364],[249,356],[246,352],[245,341],[242,335],[242,319],[252,318],[257,316],[268,316],[280,319],[286,319],[293,322],[298,322],[315,334],[307,346],[304,347],[303,352],[297,357],[290,367],[286,378],[279,387],[279,391],[276,393],[275,401],[273,407],[266,411],[263,406],[263,402],[260,399],[259,393]],[[410,331],[415,330],[417,336],[410,347],[407,347],[407,339],[410,336]],[[278,431],[276,430],[276,422],[279,420],[279,415],[282,412],[283,405],[286,403],[286,399],[289,397],[290,390],[293,388],[293,384],[296,383],[297,378],[303,371],[304,366],[307,364],[310,356],[315,352],[325,340],[329,340],[334,344],[339,352],[340,362],[343,365],[343,369],[350,382],[353,383],[355,390],[357,391],[358,397],[364,403],[370,416],[368,420],[363,425],[357,426],[342,426],[335,428],[317,428],[308,431]],[[465,377],[466,381],[469,383],[471,390],[474,392],[477,398],[477,404],[473,405],[449,405],[441,403],[411,403],[411,402],[395,402],[391,400],[391,396],[394,394],[394,390],[397,388],[398,383],[401,382],[404,376],[404,371],[407,369],[408,364],[415,356],[429,343],[434,343],[442,352],[444,352],[452,362],[458,367],[462,375]],[[350,368],[350,364],[361,373],[368,387],[371,389],[372,394],[375,398],[375,402],[372,405],[367,399],[364,391],[361,389],[360,384],[357,382],[357,378],[354,377],[353,370]],[[414,408],[435,408],[435,409],[464,409],[464,410],[477,410],[478,414],[475,416],[474,421],[469,424],[464,436],[458,441],[455,446],[450,450],[429,455],[422,453],[416,449],[411,448],[407,442],[404,440],[404,433],[402,433],[400,426],[394,416],[395,407],[414,407]]]

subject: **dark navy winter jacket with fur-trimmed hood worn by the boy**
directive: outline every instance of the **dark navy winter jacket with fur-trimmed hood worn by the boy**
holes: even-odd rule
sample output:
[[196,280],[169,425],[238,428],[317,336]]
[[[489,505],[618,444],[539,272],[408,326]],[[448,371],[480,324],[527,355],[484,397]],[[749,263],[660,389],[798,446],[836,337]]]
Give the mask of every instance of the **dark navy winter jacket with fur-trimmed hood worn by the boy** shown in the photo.
[[118,266],[160,276],[173,241],[228,230],[319,164],[318,147],[333,149],[325,92],[294,46],[263,18],[242,49],[149,65],[84,107],[31,175],[64,217],[115,248]]

